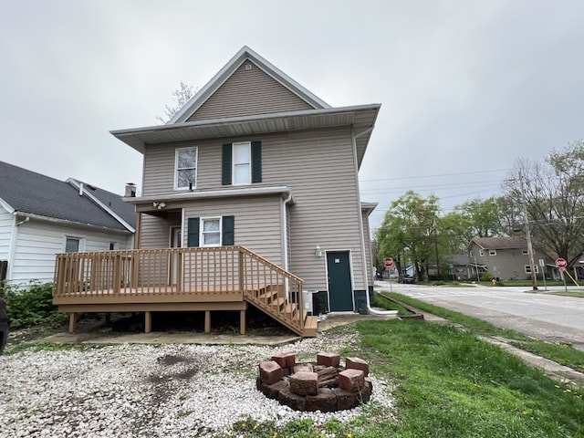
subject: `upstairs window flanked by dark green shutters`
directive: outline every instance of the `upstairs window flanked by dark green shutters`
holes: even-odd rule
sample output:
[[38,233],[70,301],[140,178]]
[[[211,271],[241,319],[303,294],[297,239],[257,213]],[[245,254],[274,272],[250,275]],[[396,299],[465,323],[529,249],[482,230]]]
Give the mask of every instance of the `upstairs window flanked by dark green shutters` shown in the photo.
[[224,143],[221,183],[243,185],[262,182],[262,142]]

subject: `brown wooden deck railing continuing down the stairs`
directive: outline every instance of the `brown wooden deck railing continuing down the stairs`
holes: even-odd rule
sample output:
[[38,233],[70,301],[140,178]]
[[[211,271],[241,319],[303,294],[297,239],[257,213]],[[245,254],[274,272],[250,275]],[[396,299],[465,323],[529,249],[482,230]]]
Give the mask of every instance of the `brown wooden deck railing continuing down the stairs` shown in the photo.
[[56,262],[55,304],[245,299],[289,328],[304,324],[302,279],[244,246],[67,253]]

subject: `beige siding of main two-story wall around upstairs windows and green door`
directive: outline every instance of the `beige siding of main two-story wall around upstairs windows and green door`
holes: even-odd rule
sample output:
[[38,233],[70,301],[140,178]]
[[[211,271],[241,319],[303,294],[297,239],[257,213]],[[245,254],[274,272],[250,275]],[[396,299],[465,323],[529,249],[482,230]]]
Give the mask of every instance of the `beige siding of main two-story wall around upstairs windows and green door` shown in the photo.
[[[306,287],[326,290],[326,257],[315,256],[316,245],[320,245],[323,252],[350,250],[354,286],[356,289],[366,289],[364,269],[367,267],[362,266],[361,211],[355,178],[357,169],[349,127],[148,145],[144,156],[144,196],[176,193],[172,190],[174,150],[187,146],[198,147],[196,191],[233,188],[221,184],[221,146],[225,142],[252,140],[262,141],[263,180],[250,187],[286,185],[291,188],[296,202],[289,210],[291,271],[305,280]],[[224,205],[221,215],[235,214],[229,213],[230,203],[247,203],[253,199],[238,201],[236,198],[222,198],[217,203]],[[189,214],[202,216],[193,211]],[[265,219],[261,210],[252,210],[249,214],[252,224]],[[236,245],[245,245],[237,239],[237,229],[241,230],[241,226],[236,217]],[[142,238],[147,233],[143,228]],[[164,245],[168,245],[168,238],[165,242]],[[281,239],[274,245],[279,251]],[[266,247],[266,250],[270,256],[274,252],[274,248]]]

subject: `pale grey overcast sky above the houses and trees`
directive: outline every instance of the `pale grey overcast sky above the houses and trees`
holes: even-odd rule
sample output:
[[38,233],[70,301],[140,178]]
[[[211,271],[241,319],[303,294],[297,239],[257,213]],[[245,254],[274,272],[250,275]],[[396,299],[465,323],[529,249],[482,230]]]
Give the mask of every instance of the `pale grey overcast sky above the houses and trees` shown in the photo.
[[448,213],[584,137],[580,0],[0,5],[0,160],[111,192],[141,185],[141,154],[110,130],[157,124],[243,46],[333,107],[381,103],[360,169],[373,227],[408,189]]

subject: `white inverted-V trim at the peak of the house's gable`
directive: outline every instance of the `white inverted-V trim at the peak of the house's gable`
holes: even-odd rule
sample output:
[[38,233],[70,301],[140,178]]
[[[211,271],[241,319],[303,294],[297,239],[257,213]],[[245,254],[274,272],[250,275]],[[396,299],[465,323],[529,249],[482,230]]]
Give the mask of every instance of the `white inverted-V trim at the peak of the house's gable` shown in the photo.
[[246,60],[253,62],[257,68],[261,68],[268,76],[274,78],[278,83],[296,94],[300,99],[306,101],[308,105],[315,110],[331,108],[327,102],[318,98],[318,96],[308,91],[308,89],[302,87],[296,80],[288,77],[286,73],[276,68],[264,57],[260,57],[250,47],[244,46],[239,49],[235,56],[232,57],[202,89],[199,89],[194,94],[193,98],[191,98],[181,110],[174,114],[167,124],[182,123],[188,120],[189,117],[191,117],[196,110],[201,108],[203,103],[206,102],[207,99],[209,99]]

